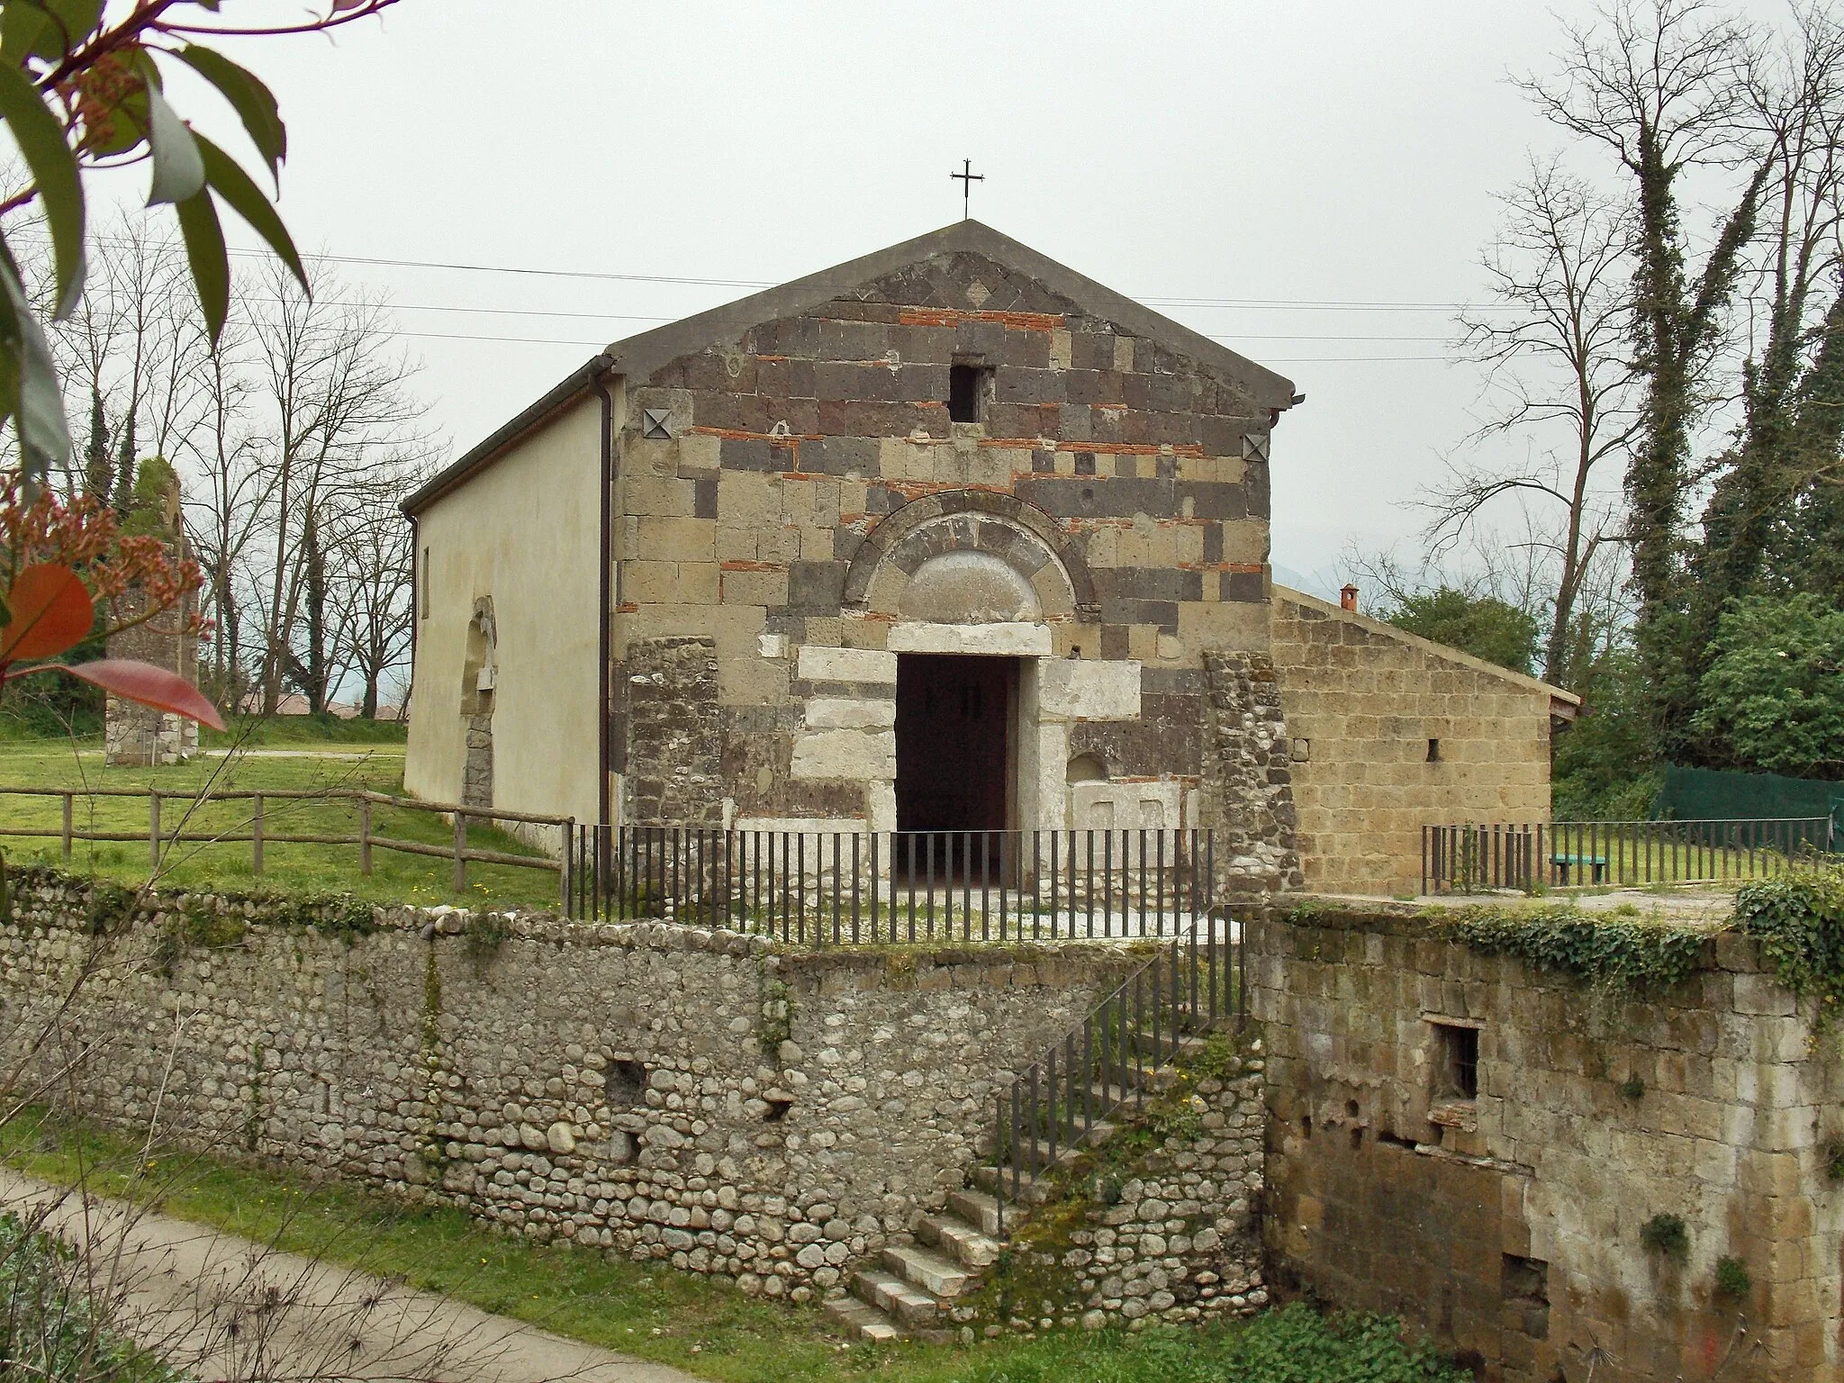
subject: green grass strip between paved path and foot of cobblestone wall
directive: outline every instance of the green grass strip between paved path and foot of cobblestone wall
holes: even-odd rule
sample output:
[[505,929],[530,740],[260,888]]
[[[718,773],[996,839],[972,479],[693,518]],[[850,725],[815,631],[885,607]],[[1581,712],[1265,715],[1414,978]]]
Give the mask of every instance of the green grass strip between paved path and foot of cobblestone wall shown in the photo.
[[46,1180],[155,1204],[278,1248],[402,1276],[483,1307],[725,1383],[1464,1383],[1405,1348],[1394,1322],[1306,1307],[1223,1330],[999,1339],[977,1346],[845,1344],[815,1307],[778,1306],[666,1265],[494,1234],[457,1210],[409,1208],[251,1165],[142,1149],[26,1110],[0,1158]]

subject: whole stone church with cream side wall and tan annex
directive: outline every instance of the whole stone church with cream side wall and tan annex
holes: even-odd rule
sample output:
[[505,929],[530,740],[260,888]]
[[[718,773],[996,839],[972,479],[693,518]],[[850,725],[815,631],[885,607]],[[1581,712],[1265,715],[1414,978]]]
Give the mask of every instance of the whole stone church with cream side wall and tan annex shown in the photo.
[[1424,822],[1547,819],[1575,699],[1272,586],[1300,402],[977,221],[618,341],[406,503],[406,786],[1413,891]]

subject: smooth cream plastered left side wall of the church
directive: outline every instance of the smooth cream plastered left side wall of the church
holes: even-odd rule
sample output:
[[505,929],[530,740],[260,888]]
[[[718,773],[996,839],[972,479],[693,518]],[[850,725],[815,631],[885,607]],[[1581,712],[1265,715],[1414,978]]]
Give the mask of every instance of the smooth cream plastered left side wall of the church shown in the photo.
[[463,800],[468,621],[489,597],[492,806],[596,821],[599,409],[596,398],[575,406],[420,514],[404,760],[404,786],[419,797]]

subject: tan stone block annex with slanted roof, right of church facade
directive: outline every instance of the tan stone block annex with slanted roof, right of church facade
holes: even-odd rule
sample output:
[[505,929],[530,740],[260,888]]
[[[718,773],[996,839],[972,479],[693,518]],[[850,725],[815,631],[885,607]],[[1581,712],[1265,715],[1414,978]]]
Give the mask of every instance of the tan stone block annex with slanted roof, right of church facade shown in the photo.
[[1274,592],[1272,658],[1307,889],[1420,892],[1422,826],[1549,821],[1567,693],[1293,590]]

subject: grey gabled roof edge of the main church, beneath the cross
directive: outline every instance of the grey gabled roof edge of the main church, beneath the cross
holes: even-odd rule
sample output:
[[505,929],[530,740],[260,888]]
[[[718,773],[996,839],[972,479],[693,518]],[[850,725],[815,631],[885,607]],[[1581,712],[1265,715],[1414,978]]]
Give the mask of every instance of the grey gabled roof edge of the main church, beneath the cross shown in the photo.
[[492,435],[485,437],[467,455],[441,470],[404,500],[404,513],[415,514],[430,502],[455,489],[476,470],[494,461],[500,452],[522,435],[573,406],[590,391],[590,380],[601,374],[623,374],[629,380],[644,380],[660,365],[679,356],[736,341],[752,326],[784,317],[798,317],[837,297],[848,297],[911,264],[963,251],[983,254],[1005,269],[1014,269],[1027,278],[1038,280],[1049,291],[1070,299],[1095,317],[1114,323],[1130,336],[1156,341],[1175,354],[1195,360],[1202,371],[1247,389],[1261,408],[1285,409],[1294,402],[1291,380],[1258,365],[1247,356],[1239,356],[1208,336],[1193,332],[1189,326],[1182,326],[1171,317],[1152,312],[1152,308],[1134,302],[1130,297],[1057,264],[1057,260],[994,230],[990,225],[983,225],[981,221],[953,221],[940,230],[905,240],[900,245],[835,264],[830,269],[810,273],[780,288],[751,293],[721,308],[701,312],[695,317],[682,317],[651,332],[616,341],[605,352],[572,371],[550,393],[494,430]]

